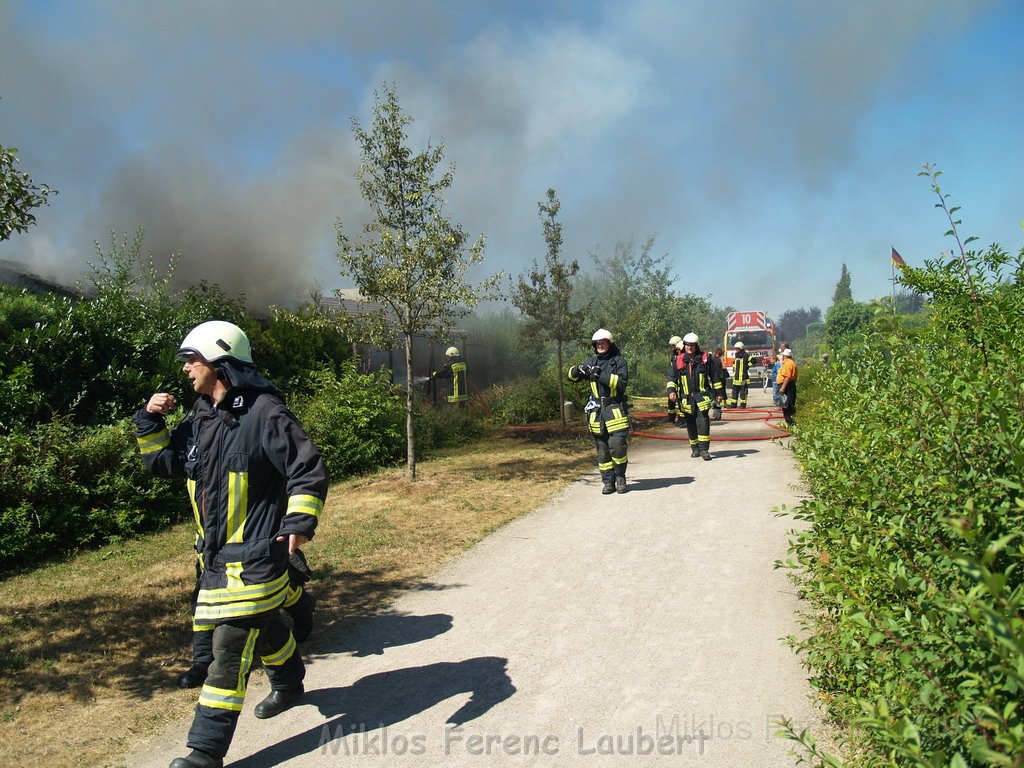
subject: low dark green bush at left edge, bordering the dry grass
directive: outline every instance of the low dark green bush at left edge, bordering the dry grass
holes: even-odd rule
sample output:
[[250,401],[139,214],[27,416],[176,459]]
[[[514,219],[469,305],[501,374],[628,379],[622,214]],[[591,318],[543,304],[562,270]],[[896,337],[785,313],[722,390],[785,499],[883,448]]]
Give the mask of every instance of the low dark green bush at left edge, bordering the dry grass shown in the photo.
[[0,435],[0,570],[181,519],[184,493],[151,477],[129,420],[65,419]]

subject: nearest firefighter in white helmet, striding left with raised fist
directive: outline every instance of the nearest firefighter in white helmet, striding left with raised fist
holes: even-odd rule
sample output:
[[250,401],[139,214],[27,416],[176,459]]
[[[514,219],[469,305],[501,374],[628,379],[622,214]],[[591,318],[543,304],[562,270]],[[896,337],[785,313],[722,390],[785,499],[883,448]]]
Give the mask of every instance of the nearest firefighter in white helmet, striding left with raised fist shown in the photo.
[[171,768],[219,768],[231,742],[256,654],[270,693],[257,718],[303,693],[305,667],[281,616],[289,555],[312,539],[328,475],[279,390],[256,370],[249,339],[230,323],[195,328],[181,342],[182,372],[200,397],[169,432],[174,395],[154,394],[133,416],[146,469],[184,477],[202,574],[193,621],[212,626],[213,662],[187,744]]

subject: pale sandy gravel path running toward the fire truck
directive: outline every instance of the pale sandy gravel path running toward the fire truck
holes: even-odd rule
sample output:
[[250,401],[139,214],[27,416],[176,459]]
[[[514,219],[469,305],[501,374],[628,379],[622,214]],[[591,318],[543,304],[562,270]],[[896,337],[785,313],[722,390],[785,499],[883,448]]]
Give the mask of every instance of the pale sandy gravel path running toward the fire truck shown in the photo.
[[[794,765],[773,721],[816,717],[778,640],[798,601],[772,568],[793,522],[771,510],[799,474],[777,442],[715,441],[766,431],[716,424],[711,462],[640,439],[629,494],[595,471],[322,642],[300,706],[258,721],[253,686],[228,764]],[[127,764],[166,766],[187,725]]]

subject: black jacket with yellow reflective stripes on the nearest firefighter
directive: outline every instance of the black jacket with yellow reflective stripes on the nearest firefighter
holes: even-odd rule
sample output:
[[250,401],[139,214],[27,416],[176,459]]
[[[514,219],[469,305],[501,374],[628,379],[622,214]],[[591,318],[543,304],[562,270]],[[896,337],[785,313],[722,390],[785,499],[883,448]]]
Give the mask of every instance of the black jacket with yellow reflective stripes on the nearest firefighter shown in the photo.
[[319,452],[285,403],[275,393],[231,389],[217,406],[200,397],[171,433],[161,414],[140,409],[132,418],[146,469],[185,478],[203,566],[194,622],[280,607],[287,535],[312,538],[328,490]]

